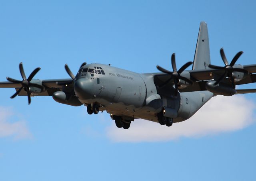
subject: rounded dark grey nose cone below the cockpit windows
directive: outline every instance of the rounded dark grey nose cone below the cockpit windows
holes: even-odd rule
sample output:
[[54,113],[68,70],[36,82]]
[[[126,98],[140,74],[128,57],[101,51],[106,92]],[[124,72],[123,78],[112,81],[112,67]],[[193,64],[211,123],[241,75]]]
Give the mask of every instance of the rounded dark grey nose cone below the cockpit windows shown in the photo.
[[77,79],[74,82],[74,91],[79,99],[88,99],[90,97],[90,81]]

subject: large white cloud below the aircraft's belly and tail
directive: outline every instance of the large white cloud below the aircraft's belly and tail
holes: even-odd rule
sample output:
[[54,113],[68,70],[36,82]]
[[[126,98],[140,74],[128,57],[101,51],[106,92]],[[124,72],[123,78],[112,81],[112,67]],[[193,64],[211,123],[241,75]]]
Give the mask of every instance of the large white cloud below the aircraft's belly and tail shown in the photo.
[[202,137],[240,130],[253,123],[255,104],[242,95],[216,96],[190,119],[171,127],[147,120],[135,120],[128,130],[118,129],[113,123],[106,134],[114,142],[156,142],[182,137]]

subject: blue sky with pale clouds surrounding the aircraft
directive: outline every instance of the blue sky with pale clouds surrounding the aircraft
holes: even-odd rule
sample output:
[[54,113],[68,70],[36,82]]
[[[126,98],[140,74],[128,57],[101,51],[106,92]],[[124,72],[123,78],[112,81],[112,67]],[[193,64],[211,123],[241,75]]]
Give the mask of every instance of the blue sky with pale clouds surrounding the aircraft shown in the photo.
[[[42,68],[38,79],[69,78],[65,63],[75,73],[84,61],[157,72],[157,64],[170,69],[174,52],[180,67],[194,58],[201,21],[212,64],[223,65],[221,47],[228,60],[244,51],[238,63],[255,64],[255,8],[253,1],[0,1],[0,81],[21,79],[21,61],[27,75]],[[162,131],[138,120],[124,132],[106,113],[88,115],[50,96],[28,106],[25,96],[10,99],[14,92],[0,89],[0,181],[255,177],[255,94],[220,96],[182,126]]]

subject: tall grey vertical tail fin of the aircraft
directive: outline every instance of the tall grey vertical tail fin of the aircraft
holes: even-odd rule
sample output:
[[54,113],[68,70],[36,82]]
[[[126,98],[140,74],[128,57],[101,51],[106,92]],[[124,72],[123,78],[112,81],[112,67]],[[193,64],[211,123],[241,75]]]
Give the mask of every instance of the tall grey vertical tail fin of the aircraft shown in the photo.
[[207,24],[205,22],[201,22],[192,70],[208,69],[210,62],[210,47]]

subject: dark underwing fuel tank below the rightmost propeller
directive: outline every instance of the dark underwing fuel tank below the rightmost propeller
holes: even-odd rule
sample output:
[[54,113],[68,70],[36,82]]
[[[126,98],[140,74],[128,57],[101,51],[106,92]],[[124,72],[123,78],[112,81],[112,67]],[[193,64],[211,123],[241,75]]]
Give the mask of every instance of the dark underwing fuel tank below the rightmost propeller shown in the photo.
[[236,89],[233,89],[231,85],[227,84],[217,84],[216,81],[208,81],[205,85],[206,89],[214,94],[219,94],[223,96],[232,96],[236,94]]

